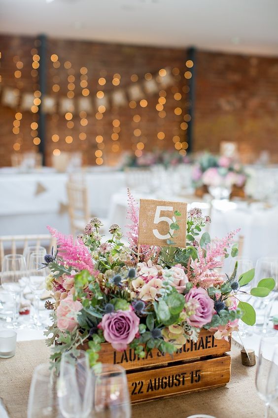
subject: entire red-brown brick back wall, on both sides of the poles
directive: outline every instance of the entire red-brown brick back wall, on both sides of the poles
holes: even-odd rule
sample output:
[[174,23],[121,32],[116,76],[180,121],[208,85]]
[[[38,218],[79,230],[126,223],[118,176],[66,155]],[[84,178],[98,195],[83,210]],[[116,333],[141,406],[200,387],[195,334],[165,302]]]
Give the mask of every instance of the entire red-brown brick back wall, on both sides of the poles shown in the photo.
[[[36,70],[32,67],[33,55],[37,49],[36,40],[0,35],[0,45],[2,90],[5,86],[18,88],[21,92],[37,90]],[[51,61],[52,54],[57,54],[58,64]],[[23,68],[16,67],[18,61],[23,63]],[[134,74],[140,82],[144,80],[146,73],[155,77],[161,68],[175,68],[174,75],[172,74],[174,84],[168,88],[160,87],[161,96],[158,92],[153,95],[145,94],[144,98],[148,103],[146,107],[137,103],[136,108],[131,108],[127,102],[125,106],[116,108],[109,102],[102,119],[97,119],[100,117],[98,109],[94,109],[92,114],[88,113],[85,117],[84,114],[80,116],[79,111],[75,112],[70,121],[65,119],[64,114],[48,115],[48,165],[51,164],[54,149],[82,151],[84,163],[92,165],[96,162],[97,150],[102,151],[104,163],[113,163],[117,161],[121,151],[135,151],[139,142],[144,144],[146,150],[174,150],[173,137],[178,136],[180,143],[186,148],[184,121],[187,121],[188,96],[187,80],[183,74],[189,69],[185,66],[184,50],[49,39],[46,61],[47,94],[61,98],[67,97],[67,94],[72,95],[71,91],[74,93],[72,101],[82,96],[84,88],[90,90],[89,97],[96,97],[97,91],[100,90],[108,96],[119,88],[126,91],[128,86],[136,84],[131,81]],[[65,68],[65,65],[68,68]],[[86,74],[80,73],[82,67],[86,68]],[[278,161],[278,58],[198,51],[194,68],[194,151],[209,149],[217,152],[220,142],[228,140],[238,142],[246,161],[255,158],[262,149],[268,149],[273,161]],[[20,78],[15,78],[15,71],[21,71]],[[115,74],[121,76],[119,85],[112,84]],[[98,83],[101,77],[105,78],[104,85]],[[83,87],[80,85],[81,82]],[[69,85],[70,83],[74,86]],[[54,90],[59,88],[59,91],[53,90],[54,84],[58,85]],[[175,100],[175,93],[181,94],[180,100]],[[166,102],[163,103],[161,113],[156,107],[158,99],[163,96]],[[179,107],[182,114],[176,115],[174,110]],[[14,129],[18,128],[18,122],[15,122],[15,114],[18,111],[22,112],[20,108],[10,109],[0,104],[1,166],[10,165],[11,153],[38,148],[33,143],[37,135],[36,129],[31,128],[31,123],[37,120],[37,113],[22,112],[18,132],[18,129]],[[81,119],[86,119],[87,122],[81,122]],[[114,120],[120,121],[120,125],[113,126]],[[138,120],[139,122],[136,122]],[[80,122],[87,125],[81,125]],[[164,139],[158,139],[158,132],[164,132]],[[84,134],[86,139],[83,139]],[[118,135],[118,139],[113,140],[112,134],[116,134],[113,135],[114,139]],[[57,135],[59,140],[54,142],[52,138],[57,139]],[[103,142],[96,141],[100,136],[103,137]],[[67,137],[68,141],[71,140],[69,137],[72,137],[71,143],[66,142]],[[20,150],[14,151],[14,146],[16,149],[20,147]]]

